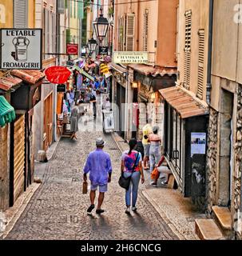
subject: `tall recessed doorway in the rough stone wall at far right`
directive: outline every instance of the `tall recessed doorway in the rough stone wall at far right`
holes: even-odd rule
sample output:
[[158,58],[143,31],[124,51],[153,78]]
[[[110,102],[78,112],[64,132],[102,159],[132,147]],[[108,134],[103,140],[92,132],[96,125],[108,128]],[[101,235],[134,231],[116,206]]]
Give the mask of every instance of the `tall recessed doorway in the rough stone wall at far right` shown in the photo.
[[220,168],[219,195],[220,206],[231,206],[233,173],[233,100],[228,90],[222,90],[220,102]]

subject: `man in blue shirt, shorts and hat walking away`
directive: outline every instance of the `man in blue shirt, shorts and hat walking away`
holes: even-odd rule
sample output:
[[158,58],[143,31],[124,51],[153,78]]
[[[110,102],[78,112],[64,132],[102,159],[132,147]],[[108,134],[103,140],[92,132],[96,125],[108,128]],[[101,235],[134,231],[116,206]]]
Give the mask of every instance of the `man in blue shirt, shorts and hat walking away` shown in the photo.
[[86,174],[89,173],[91,182],[90,201],[91,206],[87,210],[87,214],[91,214],[94,209],[94,200],[96,196],[97,186],[99,186],[99,197],[96,214],[102,214],[101,204],[104,199],[104,194],[108,190],[108,182],[111,182],[112,166],[109,154],[105,153],[103,147],[105,141],[102,138],[96,140],[97,149],[91,152],[85,162],[83,180],[86,181]]

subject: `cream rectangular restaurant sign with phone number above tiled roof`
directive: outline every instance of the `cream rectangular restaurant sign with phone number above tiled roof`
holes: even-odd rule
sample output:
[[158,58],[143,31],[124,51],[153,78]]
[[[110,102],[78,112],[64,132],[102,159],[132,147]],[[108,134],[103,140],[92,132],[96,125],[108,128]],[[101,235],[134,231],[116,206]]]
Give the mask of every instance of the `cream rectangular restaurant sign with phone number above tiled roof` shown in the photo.
[[142,64],[148,62],[148,52],[146,51],[114,51],[113,63],[117,64]]

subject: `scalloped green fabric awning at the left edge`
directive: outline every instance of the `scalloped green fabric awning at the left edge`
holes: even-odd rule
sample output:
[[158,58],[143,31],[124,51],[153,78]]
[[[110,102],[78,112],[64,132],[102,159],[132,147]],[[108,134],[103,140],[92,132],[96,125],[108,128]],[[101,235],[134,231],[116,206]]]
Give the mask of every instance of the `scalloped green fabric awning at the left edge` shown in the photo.
[[13,122],[16,118],[14,108],[6,101],[6,98],[0,96],[0,127],[3,127],[8,122]]

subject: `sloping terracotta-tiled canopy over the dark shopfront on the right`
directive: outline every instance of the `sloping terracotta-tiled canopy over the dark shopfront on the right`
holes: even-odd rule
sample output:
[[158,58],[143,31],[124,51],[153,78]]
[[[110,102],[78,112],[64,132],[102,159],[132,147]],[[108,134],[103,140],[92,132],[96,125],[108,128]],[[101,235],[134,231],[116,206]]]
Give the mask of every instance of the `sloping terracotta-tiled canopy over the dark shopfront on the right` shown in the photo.
[[180,86],[159,90],[162,98],[181,114],[181,118],[191,118],[194,116],[208,114],[208,107],[187,94]]

